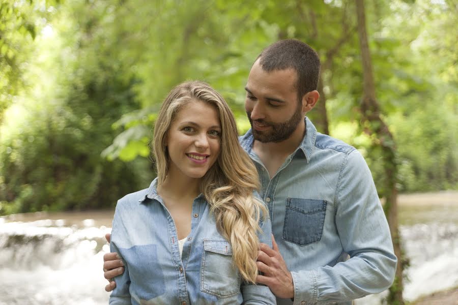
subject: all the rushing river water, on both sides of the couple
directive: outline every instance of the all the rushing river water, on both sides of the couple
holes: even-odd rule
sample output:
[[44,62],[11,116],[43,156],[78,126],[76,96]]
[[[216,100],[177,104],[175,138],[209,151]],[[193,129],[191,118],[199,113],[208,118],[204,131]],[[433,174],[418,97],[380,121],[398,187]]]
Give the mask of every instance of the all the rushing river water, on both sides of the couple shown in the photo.
[[[102,305],[105,233],[113,211],[0,218],[0,305]],[[458,192],[399,197],[400,234],[410,258],[405,297],[458,286]],[[383,293],[355,301],[381,303]]]

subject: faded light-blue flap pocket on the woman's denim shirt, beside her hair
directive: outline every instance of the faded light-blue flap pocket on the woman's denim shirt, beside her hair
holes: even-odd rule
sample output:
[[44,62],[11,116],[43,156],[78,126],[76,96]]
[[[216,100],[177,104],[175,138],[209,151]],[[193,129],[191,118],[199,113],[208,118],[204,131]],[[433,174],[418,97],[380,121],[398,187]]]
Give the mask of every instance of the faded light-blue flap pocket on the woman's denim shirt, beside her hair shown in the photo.
[[232,260],[232,247],[226,240],[204,239],[201,291],[219,298],[240,293],[241,275]]

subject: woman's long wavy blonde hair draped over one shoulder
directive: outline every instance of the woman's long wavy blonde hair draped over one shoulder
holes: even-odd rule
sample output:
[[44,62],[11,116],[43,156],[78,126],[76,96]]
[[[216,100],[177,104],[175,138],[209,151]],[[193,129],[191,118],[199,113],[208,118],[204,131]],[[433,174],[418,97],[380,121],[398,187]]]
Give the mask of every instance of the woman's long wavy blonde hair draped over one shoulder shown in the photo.
[[162,104],[152,145],[158,185],[164,182],[169,166],[165,141],[170,124],[186,103],[195,100],[216,107],[222,130],[219,156],[204,175],[201,191],[215,215],[218,231],[231,242],[233,261],[242,278],[254,283],[259,246],[257,232],[261,216],[267,217],[267,208],[253,197],[253,191],[259,189],[259,177],[254,164],[239,144],[234,114],[221,95],[205,82],[181,83],[171,90]]

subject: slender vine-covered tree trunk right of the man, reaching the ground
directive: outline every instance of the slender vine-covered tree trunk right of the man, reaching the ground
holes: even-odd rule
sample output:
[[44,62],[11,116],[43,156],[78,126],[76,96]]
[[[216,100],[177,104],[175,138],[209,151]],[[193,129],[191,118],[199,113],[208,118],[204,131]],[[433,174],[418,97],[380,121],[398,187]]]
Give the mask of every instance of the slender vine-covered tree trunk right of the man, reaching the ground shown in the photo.
[[361,101],[361,115],[365,129],[376,135],[373,145],[378,146],[382,151],[382,160],[385,168],[383,179],[383,197],[385,197],[385,215],[390,226],[391,238],[393,240],[394,254],[397,256],[397,269],[393,285],[390,287],[388,303],[393,305],[404,304],[403,300],[403,264],[404,259],[400,250],[400,238],[397,222],[397,191],[396,174],[397,164],[395,160],[395,144],[388,126],[380,116],[380,107],[376,100],[374,74],[370,58],[370,50],[367,43],[366,17],[364,0],[355,0],[356,13],[358,16],[358,34],[361,48],[363,66],[363,98]]

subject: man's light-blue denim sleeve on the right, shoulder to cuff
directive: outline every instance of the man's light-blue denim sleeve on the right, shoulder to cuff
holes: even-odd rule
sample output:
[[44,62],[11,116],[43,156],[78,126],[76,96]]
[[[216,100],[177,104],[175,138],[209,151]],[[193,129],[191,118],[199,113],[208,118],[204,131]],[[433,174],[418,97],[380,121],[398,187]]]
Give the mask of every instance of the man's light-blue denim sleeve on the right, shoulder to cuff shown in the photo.
[[294,304],[348,301],[382,292],[397,258],[370,170],[358,150],[344,161],[335,197],[335,225],[350,258],[333,267],[291,272]]

